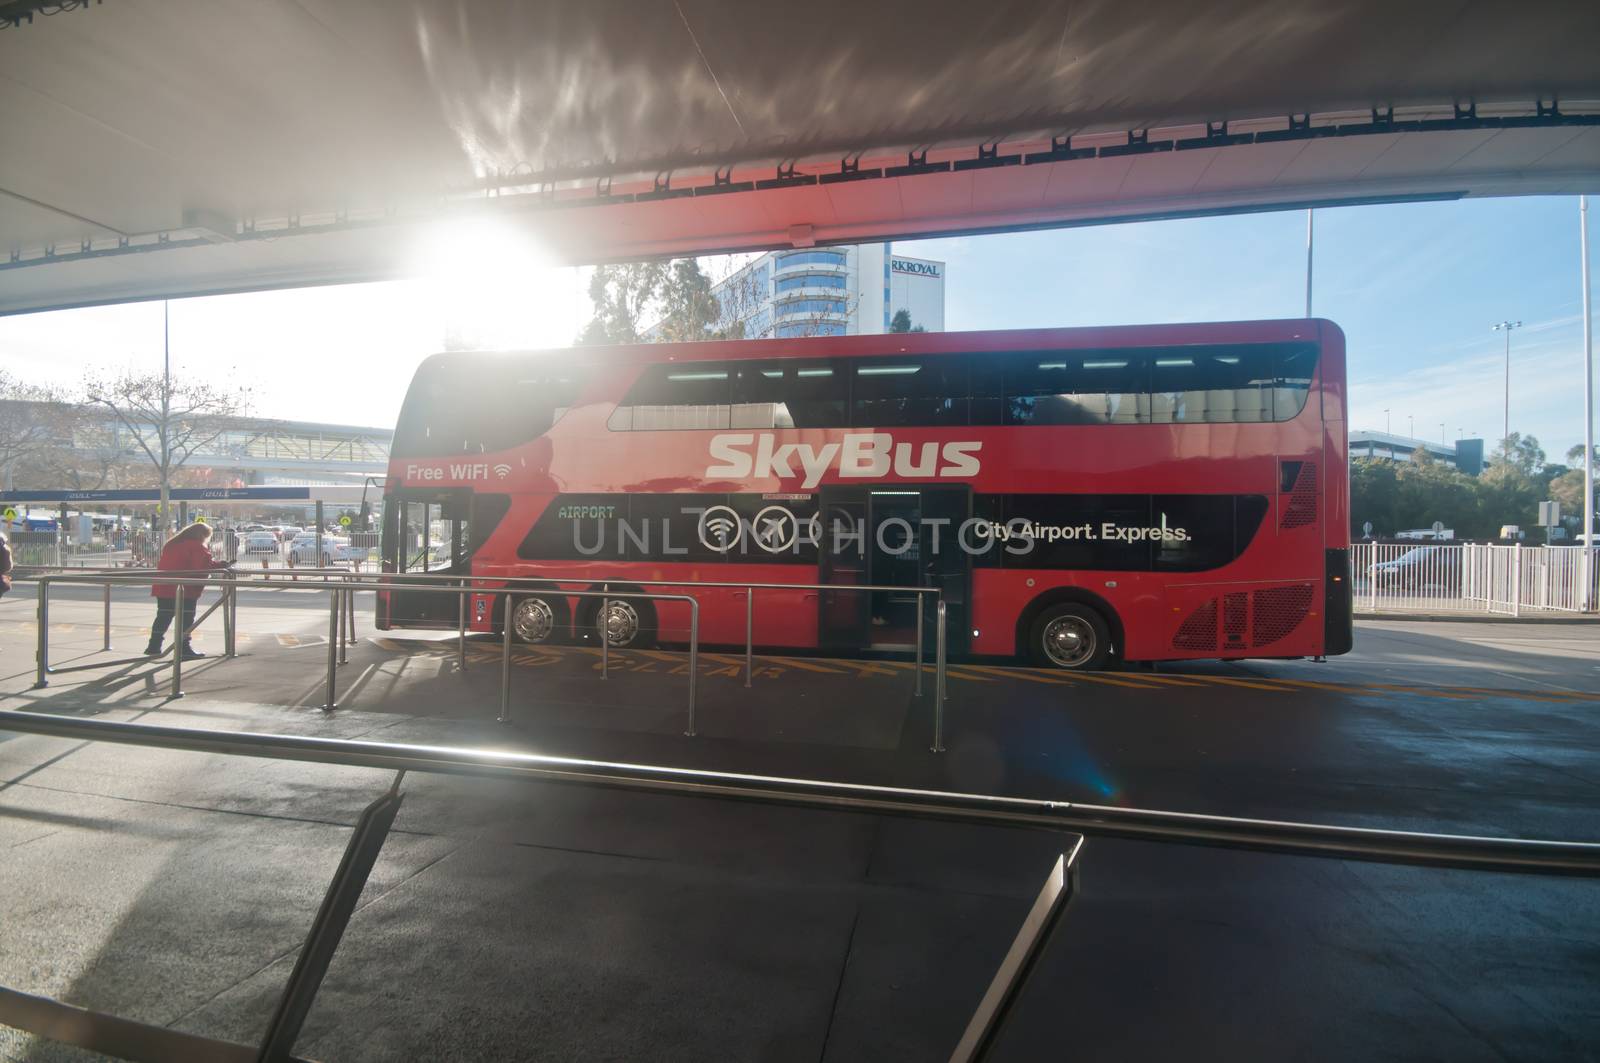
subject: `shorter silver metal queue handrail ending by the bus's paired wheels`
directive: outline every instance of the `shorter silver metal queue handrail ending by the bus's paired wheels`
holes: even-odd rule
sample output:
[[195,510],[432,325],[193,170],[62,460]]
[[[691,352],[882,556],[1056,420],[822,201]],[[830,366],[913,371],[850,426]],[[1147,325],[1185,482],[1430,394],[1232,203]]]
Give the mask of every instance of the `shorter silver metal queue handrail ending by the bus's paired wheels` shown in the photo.
[[[226,656],[237,656],[237,652],[235,652],[235,634],[237,634],[237,615],[238,615],[238,588],[240,586],[251,586],[248,581],[237,580],[234,576],[234,573],[226,573],[222,576],[210,576],[210,578],[192,578],[192,576],[171,576],[168,573],[157,573],[157,572],[150,572],[150,573],[128,573],[128,575],[120,575],[120,573],[118,575],[90,575],[90,576],[66,575],[66,573],[62,573],[62,575],[40,576],[37,580],[37,583],[38,583],[38,647],[37,647],[37,652],[35,652],[37,653],[37,677],[35,677],[35,682],[34,682],[34,688],[35,690],[48,687],[50,685],[50,676],[56,674],[56,672],[83,671],[83,669],[90,669],[90,668],[110,668],[110,666],[115,666],[115,664],[144,663],[144,661],[150,660],[147,656],[136,656],[136,658],[123,658],[123,660],[118,660],[118,661],[94,661],[91,664],[75,664],[72,668],[53,669],[50,666],[50,588],[54,586],[54,584],[58,584],[58,583],[59,584],[78,584],[78,586],[106,586],[107,588],[107,610],[106,610],[106,631],[107,631],[106,642],[107,644],[109,644],[109,637],[110,637],[109,636],[109,631],[110,631],[109,588],[112,588],[112,586],[150,586],[150,584],[155,584],[155,583],[173,584],[173,586],[178,588],[178,596],[176,596],[178,597],[178,616],[181,618],[182,616],[182,602],[184,602],[186,588],[198,586],[203,591],[208,584],[221,584],[222,594],[227,596],[227,599],[229,599],[227,610],[224,610],[224,613],[222,613],[224,623],[226,623],[226,639],[227,639]],[[277,583],[277,584],[254,583],[253,586],[258,588],[258,589],[269,589],[269,591],[293,591],[298,586],[299,589],[328,591],[330,592],[330,596],[328,596],[328,696],[326,696],[326,701],[323,703],[323,711],[331,712],[333,709],[338,708],[338,679],[336,679],[336,669],[338,669],[338,664],[339,664],[339,658],[346,656],[344,655],[344,647],[342,647],[342,632],[347,629],[347,626],[344,623],[344,618],[350,616],[350,620],[354,623],[354,612],[349,608],[349,604],[352,600],[355,588],[352,588],[347,583],[333,583],[333,581],[309,583],[309,584],[294,584],[294,586],[285,584],[285,583]],[[458,588],[429,586],[429,584],[424,584],[424,583],[411,584],[411,583],[406,583],[405,580],[402,580],[398,583],[390,583],[387,586],[390,586],[390,588],[398,586],[398,588],[410,589],[410,591],[424,591],[424,592],[432,592],[432,594],[458,594],[458,596],[462,596],[462,597],[466,594],[469,594],[469,592],[474,592],[474,594],[488,594],[488,596],[507,597],[509,599],[510,596],[520,592],[515,588],[475,588],[472,591],[467,591],[467,589],[458,589]],[[640,600],[656,600],[656,602],[672,600],[672,602],[686,602],[688,604],[688,607],[690,607],[688,728],[683,733],[686,736],[693,738],[694,733],[696,733],[694,732],[696,679],[698,679],[698,674],[699,674],[699,600],[696,600],[694,597],[691,597],[688,594],[646,594],[646,592],[629,592],[629,591],[568,591],[568,594],[573,596],[573,597],[597,597],[597,599],[602,599],[602,602],[606,600],[606,599],[640,599]],[[218,605],[221,605],[221,602]],[[213,610],[214,608],[216,607],[213,607]],[[462,610],[462,616],[464,616],[464,610]],[[182,620],[179,620],[179,624],[182,624]],[[501,698],[499,698],[499,716],[496,717],[496,722],[509,724],[510,722],[510,605],[509,605],[509,602],[507,602],[507,608],[506,608],[506,623],[502,624],[502,628],[504,628],[504,637],[501,640]],[[182,642],[184,642],[182,636],[187,631],[192,631],[192,629],[194,629],[194,626],[189,626],[184,631],[181,631],[179,637],[173,644],[173,688],[171,688],[170,698],[181,698],[181,696],[184,696],[184,693],[182,693],[182,660],[184,660],[184,655],[182,655],[182,648],[181,647],[182,647]],[[605,645],[605,644],[606,644],[606,639],[602,637],[602,645]],[[461,660],[461,664],[462,664],[462,669],[464,669],[466,668],[466,639],[461,640],[458,653],[459,653],[459,660]]]

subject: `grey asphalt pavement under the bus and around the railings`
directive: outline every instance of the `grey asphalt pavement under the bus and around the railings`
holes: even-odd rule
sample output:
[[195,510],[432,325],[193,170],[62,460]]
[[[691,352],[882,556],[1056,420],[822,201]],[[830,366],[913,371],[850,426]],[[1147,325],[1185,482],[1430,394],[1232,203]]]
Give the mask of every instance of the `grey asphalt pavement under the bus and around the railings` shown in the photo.
[[[99,599],[53,600],[58,664]],[[259,600],[256,600],[259,599]],[[142,644],[149,599],[118,592]],[[32,684],[0,704],[1600,840],[1600,628],[1362,623],[1357,652],[1067,677],[957,663],[949,752],[904,663],[518,648],[365,624],[320,711],[320,596],[259,592],[243,656]],[[203,636],[203,647],[214,647]],[[0,983],[251,1041],[370,770],[0,741]],[[410,776],[299,1052],[378,1058],[944,1058],[1053,853],[1006,831]],[[1000,1058],[1595,1058],[1600,882],[1090,839]],[[77,1058],[0,1029],[0,1058]]]

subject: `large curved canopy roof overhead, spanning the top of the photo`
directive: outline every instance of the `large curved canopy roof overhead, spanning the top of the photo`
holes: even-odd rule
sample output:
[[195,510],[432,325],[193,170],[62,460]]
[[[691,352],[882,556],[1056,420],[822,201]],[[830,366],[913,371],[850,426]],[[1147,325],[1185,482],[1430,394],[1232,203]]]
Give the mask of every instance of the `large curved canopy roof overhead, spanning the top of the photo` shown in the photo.
[[554,261],[1600,191],[1600,5],[3,3],[0,312]]

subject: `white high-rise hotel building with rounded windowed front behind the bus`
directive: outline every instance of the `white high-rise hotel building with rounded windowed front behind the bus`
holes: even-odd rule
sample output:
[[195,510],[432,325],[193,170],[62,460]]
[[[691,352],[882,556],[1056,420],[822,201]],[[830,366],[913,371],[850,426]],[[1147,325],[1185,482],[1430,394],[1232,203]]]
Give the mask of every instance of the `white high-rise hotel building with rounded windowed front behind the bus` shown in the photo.
[[768,251],[712,291],[747,339],[886,333],[898,311],[944,331],[944,263],[888,243]]

